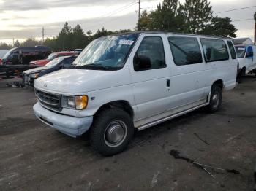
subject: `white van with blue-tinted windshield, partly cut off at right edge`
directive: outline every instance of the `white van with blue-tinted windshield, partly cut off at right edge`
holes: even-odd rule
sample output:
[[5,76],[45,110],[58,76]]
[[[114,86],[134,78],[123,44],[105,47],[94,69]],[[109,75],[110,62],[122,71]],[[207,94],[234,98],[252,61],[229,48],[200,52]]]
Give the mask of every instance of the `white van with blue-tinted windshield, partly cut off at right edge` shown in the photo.
[[256,69],[256,46],[249,44],[235,45],[239,63],[238,75],[255,73]]

